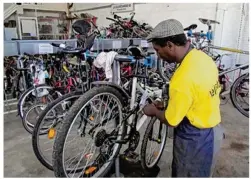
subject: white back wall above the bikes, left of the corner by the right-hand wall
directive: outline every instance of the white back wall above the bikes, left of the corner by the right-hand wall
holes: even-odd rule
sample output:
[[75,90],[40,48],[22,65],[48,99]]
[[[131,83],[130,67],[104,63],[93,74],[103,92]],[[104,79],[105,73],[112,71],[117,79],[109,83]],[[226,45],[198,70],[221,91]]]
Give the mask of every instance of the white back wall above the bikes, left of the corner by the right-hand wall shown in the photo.
[[[94,6],[88,5],[86,7],[85,4],[74,4],[73,10],[88,9],[88,7],[93,8]],[[204,6],[201,6],[201,4],[147,3],[135,4],[134,9],[136,12],[135,19],[137,21],[147,22],[153,27],[156,26],[162,20],[176,18],[181,21],[184,27],[191,25],[191,23],[197,23],[198,29],[206,30],[206,26],[198,22],[198,18],[203,17],[215,19],[216,4],[208,3]],[[111,21],[106,20],[106,17],[112,17],[110,7],[76,12],[76,14],[83,12],[91,13],[92,15],[97,16],[97,24],[99,26],[108,26],[111,23]],[[122,17],[127,17],[130,16],[130,12],[119,13],[118,15]]]

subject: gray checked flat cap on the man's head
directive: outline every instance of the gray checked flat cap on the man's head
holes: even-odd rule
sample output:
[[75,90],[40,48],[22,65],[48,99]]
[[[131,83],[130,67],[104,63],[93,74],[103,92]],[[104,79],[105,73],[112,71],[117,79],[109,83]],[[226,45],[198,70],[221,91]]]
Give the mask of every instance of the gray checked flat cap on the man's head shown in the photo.
[[146,39],[151,41],[154,38],[165,38],[179,34],[184,34],[182,24],[175,19],[168,19],[160,22]]

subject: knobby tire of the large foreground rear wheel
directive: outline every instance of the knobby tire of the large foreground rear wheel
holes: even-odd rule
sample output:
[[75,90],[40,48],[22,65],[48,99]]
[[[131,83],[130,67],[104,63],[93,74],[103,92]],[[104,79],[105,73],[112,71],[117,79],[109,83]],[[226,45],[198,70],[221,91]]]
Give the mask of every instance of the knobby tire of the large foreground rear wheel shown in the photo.
[[[88,103],[92,98],[94,98],[98,94],[102,93],[112,94],[118,99],[118,101],[121,103],[121,106],[122,107],[124,106],[123,104],[125,103],[123,101],[123,96],[121,95],[121,93],[118,92],[118,90],[116,90],[115,88],[110,86],[94,87],[91,90],[87,91],[74,103],[74,105],[70,108],[69,113],[65,117],[67,118],[67,120],[63,121],[62,127],[60,128],[58,134],[56,135],[56,139],[53,146],[52,164],[53,164],[54,174],[56,177],[66,177],[63,168],[62,155],[64,150],[63,149],[64,143],[72,122],[74,121],[76,115],[83,108],[83,106],[85,106],[86,103]],[[125,123],[123,123],[122,125],[121,139],[124,138],[124,133],[125,133]],[[115,151],[114,154],[114,158],[119,154],[121,146],[122,144],[118,144],[117,150]],[[114,160],[110,160],[107,163],[108,163],[107,167],[104,169],[103,173],[101,173],[98,177],[104,177],[107,175],[107,173],[113,166]]]

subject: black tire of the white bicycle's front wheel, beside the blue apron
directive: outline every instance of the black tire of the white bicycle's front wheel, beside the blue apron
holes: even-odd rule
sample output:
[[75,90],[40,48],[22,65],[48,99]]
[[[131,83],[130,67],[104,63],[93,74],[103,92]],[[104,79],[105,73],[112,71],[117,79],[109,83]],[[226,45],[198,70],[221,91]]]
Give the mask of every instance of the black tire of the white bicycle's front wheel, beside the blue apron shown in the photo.
[[149,136],[151,134],[151,130],[153,128],[153,125],[154,123],[156,122],[156,120],[158,120],[156,117],[152,118],[146,128],[146,131],[145,131],[145,134],[144,134],[144,138],[143,138],[143,141],[142,141],[142,146],[141,146],[141,152],[140,152],[140,159],[141,159],[141,167],[143,168],[144,171],[146,172],[149,172],[149,170],[153,169],[154,167],[156,167],[156,165],[158,164],[162,154],[163,154],[163,151],[164,151],[164,148],[165,148],[165,145],[166,145],[166,141],[167,141],[167,126],[163,123],[160,122],[161,125],[164,125],[164,127],[166,128],[166,132],[165,132],[165,137],[163,138],[163,146],[162,146],[162,149],[159,153],[159,156],[158,156],[158,159],[155,161],[155,164],[151,167],[147,166],[146,164],[146,149],[147,149],[147,142],[148,142],[148,139],[149,139]]

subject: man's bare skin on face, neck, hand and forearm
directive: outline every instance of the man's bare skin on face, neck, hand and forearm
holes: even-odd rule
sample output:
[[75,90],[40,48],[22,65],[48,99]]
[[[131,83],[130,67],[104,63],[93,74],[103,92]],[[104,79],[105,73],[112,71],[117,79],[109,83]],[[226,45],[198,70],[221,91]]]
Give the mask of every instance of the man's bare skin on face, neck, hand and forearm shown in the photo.
[[[190,47],[190,43],[187,42],[185,46],[177,46],[172,42],[167,42],[165,47],[161,47],[153,42],[153,48],[156,50],[158,57],[167,61],[168,63],[181,63],[183,58],[185,57],[188,49]],[[172,126],[167,122],[165,118],[165,111],[160,110],[161,104],[148,104],[144,107],[143,112],[147,116],[154,117],[156,116],[162,123]]]

